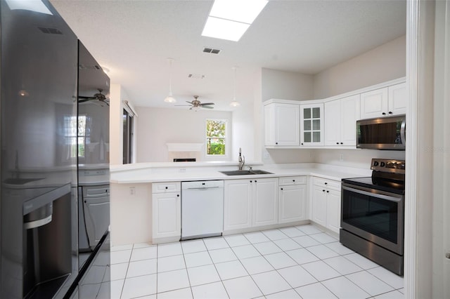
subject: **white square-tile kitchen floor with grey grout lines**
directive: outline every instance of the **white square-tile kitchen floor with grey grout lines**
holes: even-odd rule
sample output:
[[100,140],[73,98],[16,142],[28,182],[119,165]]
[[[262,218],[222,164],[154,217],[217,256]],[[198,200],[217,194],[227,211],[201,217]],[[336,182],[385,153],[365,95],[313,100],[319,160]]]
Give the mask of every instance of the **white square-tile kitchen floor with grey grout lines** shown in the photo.
[[404,298],[402,277],[314,225],[111,248],[111,297]]

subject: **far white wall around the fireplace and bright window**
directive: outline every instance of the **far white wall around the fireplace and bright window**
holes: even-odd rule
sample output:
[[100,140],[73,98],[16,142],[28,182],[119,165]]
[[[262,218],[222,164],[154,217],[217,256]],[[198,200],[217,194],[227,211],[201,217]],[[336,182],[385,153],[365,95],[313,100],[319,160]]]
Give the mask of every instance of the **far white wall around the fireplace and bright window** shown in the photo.
[[[200,109],[195,112],[189,109],[155,107],[136,107],[136,112],[139,114],[136,122],[139,127],[139,133],[136,135],[137,162],[169,161],[167,143],[204,144],[207,118],[226,119],[229,121],[229,131],[232,131],[235,126],[235,124],[232,124],[231,112],[207,109]],[[233,141],[231,140],[231,142]],[[248,148],[250,148],[252,140],[248,142]],[[245,145],[242,145],[242,147],[245,149]],[[204,151],[205,147],[203,147],[202,161],[207,160]],[[231,156],[224,159],[231,160]],[[219,158],[214,160],[219,160]]]

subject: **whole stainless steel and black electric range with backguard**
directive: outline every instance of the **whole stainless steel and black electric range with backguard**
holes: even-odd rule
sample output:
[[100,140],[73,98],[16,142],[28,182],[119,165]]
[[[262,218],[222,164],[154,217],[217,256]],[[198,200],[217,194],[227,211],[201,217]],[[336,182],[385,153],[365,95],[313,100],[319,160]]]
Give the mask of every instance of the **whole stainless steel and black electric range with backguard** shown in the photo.
[[403,275],[405,161],[372,159],[371,169],[342,179],[340,242]]

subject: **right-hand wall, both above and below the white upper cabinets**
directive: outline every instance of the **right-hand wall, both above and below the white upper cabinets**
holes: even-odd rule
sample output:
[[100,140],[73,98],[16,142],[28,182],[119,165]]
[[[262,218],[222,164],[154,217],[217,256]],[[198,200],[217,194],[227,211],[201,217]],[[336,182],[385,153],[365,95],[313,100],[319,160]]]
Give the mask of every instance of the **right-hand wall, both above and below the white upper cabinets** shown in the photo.
[[[378,46],[355,58],[330,67],[314,76],[314,98],[328,98],[340,93],[383,83],[406,75],[406,36]],[[344,160],[340,161],[340,154]],[[404,151],[316,150],[317,163],[368,168],[372,158],[405,159]]]

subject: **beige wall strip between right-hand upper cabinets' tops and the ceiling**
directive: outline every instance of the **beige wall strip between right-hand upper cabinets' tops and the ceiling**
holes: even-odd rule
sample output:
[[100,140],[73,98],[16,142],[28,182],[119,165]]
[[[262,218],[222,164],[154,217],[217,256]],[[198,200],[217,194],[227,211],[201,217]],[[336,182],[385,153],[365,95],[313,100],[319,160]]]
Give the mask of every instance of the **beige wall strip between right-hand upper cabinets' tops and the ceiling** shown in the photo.
[[406,74],[406,36],[342,62],[314,76],[314,99],[380,84]]

